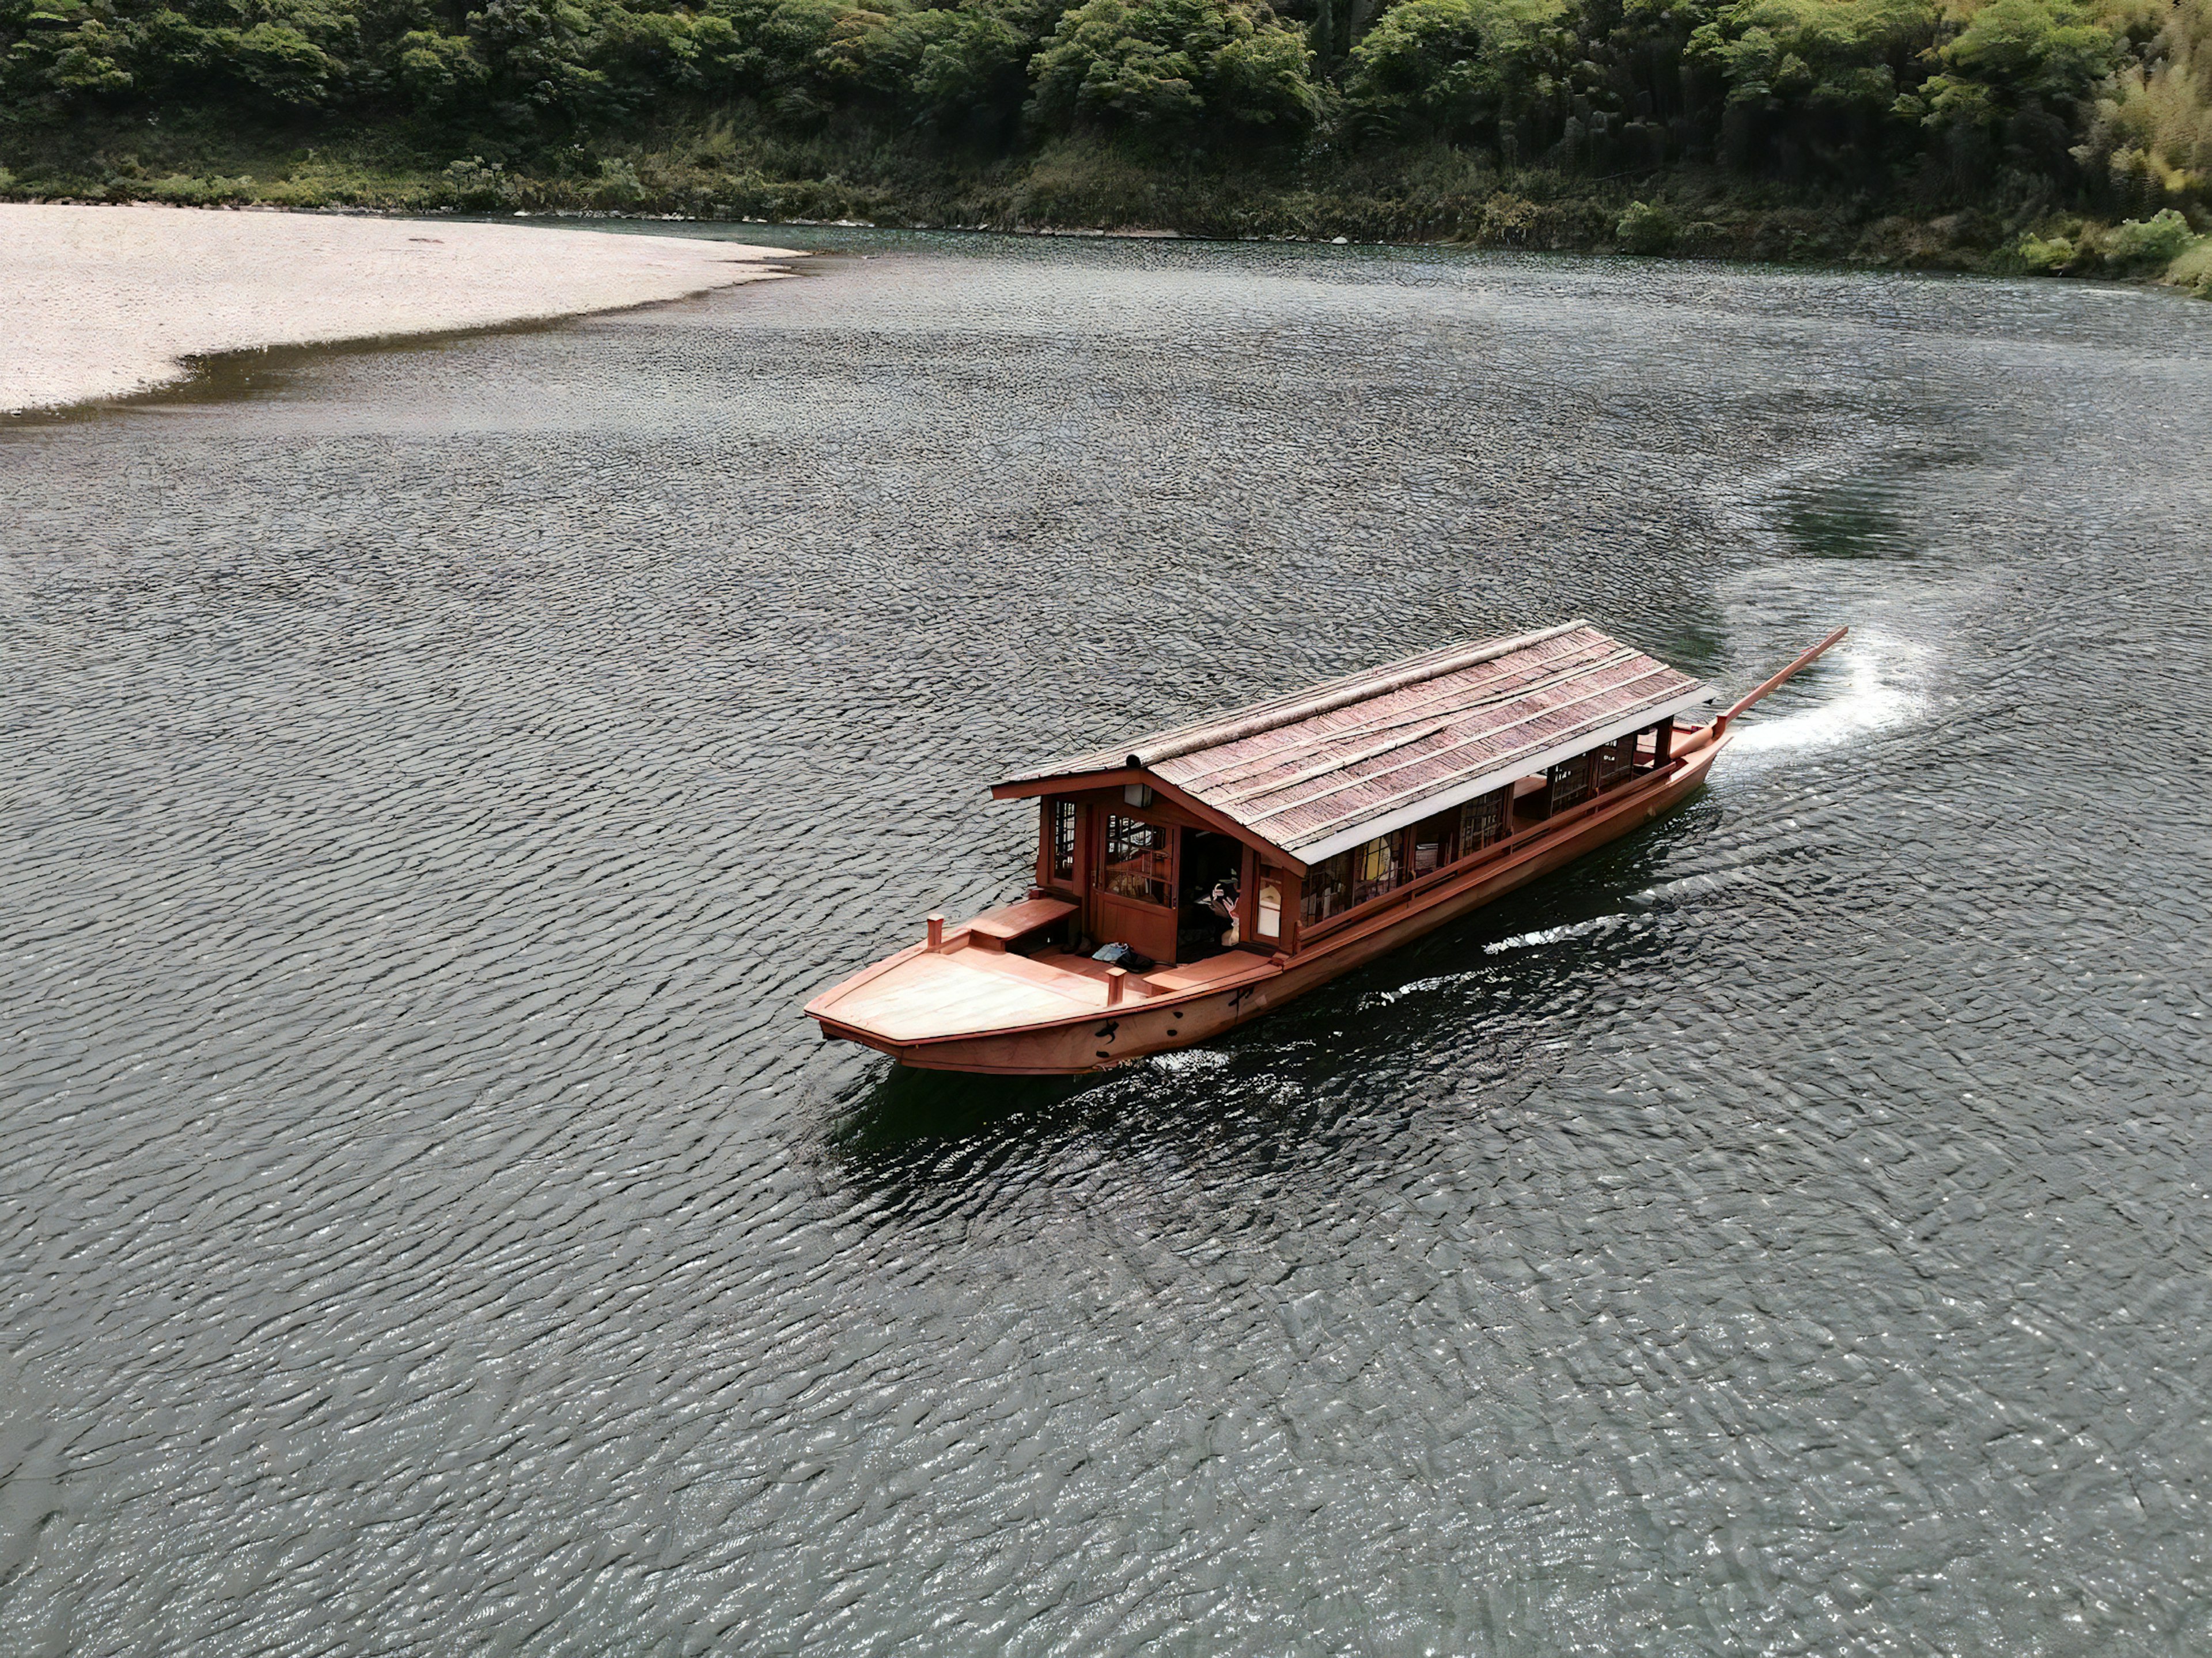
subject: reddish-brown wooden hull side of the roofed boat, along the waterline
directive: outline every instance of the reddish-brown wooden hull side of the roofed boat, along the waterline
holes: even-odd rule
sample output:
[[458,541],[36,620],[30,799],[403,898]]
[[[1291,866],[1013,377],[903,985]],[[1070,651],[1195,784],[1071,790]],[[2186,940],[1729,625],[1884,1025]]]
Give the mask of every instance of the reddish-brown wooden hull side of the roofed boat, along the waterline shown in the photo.
[[1329,979],[1367,966],[1438,926],[1449,926],[1672,811],[1705,783],[1705,772],[1725,743],[1725,732],[1710,734],[1692,754],[1681,756],[1670,774],[1646,778],[1615,796],[1601,796],[1593,802],[1597,809],[1586,818],[1562,825],[1555,833],[1533,833],[1524,849],[1509,851],[1493,869],[1471,871],[1464,884],[1453,882],[1396,913],[1363,920],[1312,948],[1303,948],[1287,962],[1254,957],[1252,973],[1237,975],[1217,988],[1133,999],[1082,1019],[918,1041],[896,1041],[863,1026],[841,1024],[834,1017],[836,993],[825,995],[810,1012],[821,1021],[825,1035],[878,1048],[900,1063],[922,1070],[1073,1077],[1192,1048],[1250,1024]]

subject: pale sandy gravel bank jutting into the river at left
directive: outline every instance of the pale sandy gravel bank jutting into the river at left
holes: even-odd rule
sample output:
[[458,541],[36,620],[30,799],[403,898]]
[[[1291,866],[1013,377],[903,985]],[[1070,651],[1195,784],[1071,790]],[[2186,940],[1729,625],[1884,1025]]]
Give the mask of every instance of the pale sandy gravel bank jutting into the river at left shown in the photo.
[[781,276],[796,254],[595,230],[0,203],[0,411],[146,391],[184,358],[438,334]]

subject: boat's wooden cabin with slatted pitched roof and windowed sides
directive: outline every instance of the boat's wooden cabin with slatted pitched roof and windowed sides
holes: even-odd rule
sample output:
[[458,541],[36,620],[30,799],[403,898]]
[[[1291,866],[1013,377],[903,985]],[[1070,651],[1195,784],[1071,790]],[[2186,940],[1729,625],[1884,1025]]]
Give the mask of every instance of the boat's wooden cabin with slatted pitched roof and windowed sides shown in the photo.
[[1708,694],[1568,621],[1020,772],[991,794],[1040,802],[1035,886],[995,946],[1294,957],[1666,769]]

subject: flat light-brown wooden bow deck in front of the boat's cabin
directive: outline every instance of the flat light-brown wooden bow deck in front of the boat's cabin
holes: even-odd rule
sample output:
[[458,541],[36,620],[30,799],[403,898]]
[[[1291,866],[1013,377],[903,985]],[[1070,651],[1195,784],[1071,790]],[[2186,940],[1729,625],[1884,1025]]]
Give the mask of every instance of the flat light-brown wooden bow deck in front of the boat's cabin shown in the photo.
[[[1186,966],[1130,973],[1121,982],[1121,1006],[1115,1010],[1272,973],[1279,973],[1274,962],[1250,951],[1225,951]],[[942,948],[920,948],[887,962],[858,984],[832,990],[812,1010],[889,1041],[927,1041],[1104,1015],[1106,986],[1106,964],[1088,955],[1066,951],[1011,955],[969,937],[953,937]]]

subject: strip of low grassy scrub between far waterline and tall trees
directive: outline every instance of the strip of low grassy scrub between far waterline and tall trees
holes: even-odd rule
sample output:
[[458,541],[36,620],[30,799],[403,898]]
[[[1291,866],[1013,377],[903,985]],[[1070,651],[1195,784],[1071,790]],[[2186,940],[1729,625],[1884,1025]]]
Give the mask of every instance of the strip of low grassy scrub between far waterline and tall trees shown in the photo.
[[[1387,166],[1221,168],[1141,164],[1091,144],[956,168],[867,146],[739,141],[728,128],[639,146],[593,170],[465,157],[429,168],[374,150],[126,157],[0,179],[40,199],[261,206],[385,214],[611,214],[911,230],[1172,232],[1223,241],[1460,243],[1542,252],[2099,276],[2212,298],[2212,234],[2168,212],[2154,234],[2124,214],[1929,210],[1865,192],[1792,190],[1712,168],[1588,179],[1500,170],[1431,148]],[[2148,210],[2146,210],[2148,212]]]

